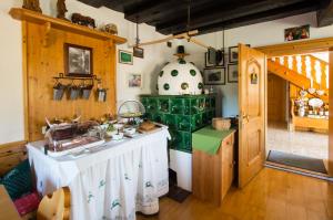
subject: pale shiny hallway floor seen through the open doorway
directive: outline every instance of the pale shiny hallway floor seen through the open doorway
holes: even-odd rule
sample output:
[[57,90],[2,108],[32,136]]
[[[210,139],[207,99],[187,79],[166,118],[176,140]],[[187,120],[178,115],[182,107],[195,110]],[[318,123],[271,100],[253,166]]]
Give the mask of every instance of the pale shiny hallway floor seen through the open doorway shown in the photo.
[[286,125],[269,124],[266,150],[279,150],[326,160],[329,135],[312,132],[289,132]]

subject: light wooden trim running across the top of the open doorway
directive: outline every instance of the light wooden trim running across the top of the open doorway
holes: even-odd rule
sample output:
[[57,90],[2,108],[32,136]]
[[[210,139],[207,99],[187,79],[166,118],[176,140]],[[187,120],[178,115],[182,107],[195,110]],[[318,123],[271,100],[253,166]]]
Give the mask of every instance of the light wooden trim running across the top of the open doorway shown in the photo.
[[333,48],[333,38],[303,40],[297,42],[259,46],[255,49],[265,53],[268,57],[272,57],[281,55],[329,51],[330,48]]

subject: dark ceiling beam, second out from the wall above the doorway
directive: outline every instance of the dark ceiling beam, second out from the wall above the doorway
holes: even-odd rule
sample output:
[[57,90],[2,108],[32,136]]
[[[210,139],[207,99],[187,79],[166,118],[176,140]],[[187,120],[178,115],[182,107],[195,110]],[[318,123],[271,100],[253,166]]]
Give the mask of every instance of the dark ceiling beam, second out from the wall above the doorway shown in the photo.
[[[229,4],[214,6],[213,8],[202,8],[201,11],[193,13],[191,17],[191,29],[196,29],[204,25],[210,25],[218,22],[261,13],[272,9],[282,8],[293,3],[312,2],[311,0],[251,0],[251,1],[235,1]],[[186,15],[186,14],[184,14]],[[186,28],[186,17],[176,18],[172,21],[160,23],[157,25],[157,31],[163,34],[181,32]]]

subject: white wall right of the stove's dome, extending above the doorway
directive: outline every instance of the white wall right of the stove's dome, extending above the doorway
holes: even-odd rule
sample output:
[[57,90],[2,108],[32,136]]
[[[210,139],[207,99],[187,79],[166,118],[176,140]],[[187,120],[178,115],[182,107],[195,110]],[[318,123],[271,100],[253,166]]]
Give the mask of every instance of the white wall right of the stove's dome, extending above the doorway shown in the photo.
[[[333,25],[316,28],[316,13],[310,12],[275,21],[226,30],[224,33],[225,48],[228,49],[229,46],[238,45],[238,43],[251,44],[252,48],[284,43],[284,29],[303,24],[311,25],[311,39],[333,36]],[[221,31],[200,35],[198,39],[216,49],[221,49],[223,45],[223,35]],[[183,43],[185,44],[188,52],[192,54],[190,60],[200,69],[203,69],[205,50],[188,42]],[[220,96],[218,102],[218,104],[220,104],[219,113],[223,116],[238,115],[238,84],[226,83],[226,85],[214,86],[214,88]]]

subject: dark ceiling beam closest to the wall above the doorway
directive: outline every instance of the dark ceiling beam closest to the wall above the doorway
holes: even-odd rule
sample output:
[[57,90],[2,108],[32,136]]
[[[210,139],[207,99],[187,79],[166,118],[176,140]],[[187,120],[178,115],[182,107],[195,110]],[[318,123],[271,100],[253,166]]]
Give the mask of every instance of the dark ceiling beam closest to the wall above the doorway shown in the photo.
[[[311,2],[302,2],[297,4],[292,4],[274,10],[269,10],[264,11],[261,13],[256,14],[251,14],[242,18],[236,18],[232,20],[228,20],[224,22],[219,22],[214,23],[211,25],[205,25],[199,28],[199,34],[205,34],[205,33],[211,33],[215,31],[222,31],[228,30],[228,29],[233,29],[233,28],[239,28],[239,27],[244,27],[244,25],[251,25],[255,23],[262,23],[266,21],[273,21],[278,19],[283,19],[286,17],[292,17],[296,14],[302,14],[311,11],[316,11],[319,9],[319,6],[315,6]],[[181,32],[181,31],[180,31]]]

